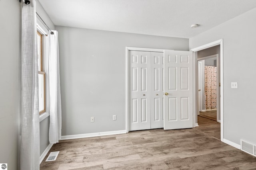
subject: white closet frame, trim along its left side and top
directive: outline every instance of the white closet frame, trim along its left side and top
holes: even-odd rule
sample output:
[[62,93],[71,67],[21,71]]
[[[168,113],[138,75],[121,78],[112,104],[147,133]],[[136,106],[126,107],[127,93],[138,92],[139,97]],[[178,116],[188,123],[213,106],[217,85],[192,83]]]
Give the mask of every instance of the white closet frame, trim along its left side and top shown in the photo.
[[129,51],[149,51],[149,52],[161,52],[164,53],[164,49],[150,49],[150,48],[140,48],[140,47],[126,47],[126,101],[125,101],[125,114],[126,114],[126,133],[129,132],[129,113],[130,113],[130,94],[129,94]]

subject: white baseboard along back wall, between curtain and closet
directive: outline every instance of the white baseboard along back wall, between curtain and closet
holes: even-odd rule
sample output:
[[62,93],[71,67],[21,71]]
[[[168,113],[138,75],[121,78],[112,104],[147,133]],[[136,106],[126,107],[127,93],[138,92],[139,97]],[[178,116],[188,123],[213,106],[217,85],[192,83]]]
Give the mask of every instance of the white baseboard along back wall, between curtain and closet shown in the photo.
[[79,139],[79,138],[86,138],[86,137],[98,137],[98,136],[106,136],[106,135],[118,135],[118,134],[124,134],[124,133],[126,133],[126,130],[97,132],[97,133],[85,133],[85,134],[79,134],[79,135],[66,135],[66,136],[61,136],[61,140]]

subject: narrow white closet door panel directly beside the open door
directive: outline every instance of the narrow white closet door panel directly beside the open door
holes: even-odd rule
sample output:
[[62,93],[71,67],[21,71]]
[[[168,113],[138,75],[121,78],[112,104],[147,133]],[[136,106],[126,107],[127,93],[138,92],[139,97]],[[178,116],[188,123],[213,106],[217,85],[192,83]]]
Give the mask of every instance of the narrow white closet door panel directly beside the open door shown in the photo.
[[164,127],[164,53],[151,52],[151,129]]

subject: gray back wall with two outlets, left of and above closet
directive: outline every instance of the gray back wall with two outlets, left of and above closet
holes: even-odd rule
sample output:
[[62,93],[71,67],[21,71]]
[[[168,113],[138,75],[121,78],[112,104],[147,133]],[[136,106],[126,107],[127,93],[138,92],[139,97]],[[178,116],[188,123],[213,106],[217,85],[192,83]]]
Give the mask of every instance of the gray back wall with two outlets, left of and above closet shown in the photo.
[[62,136],[126,129],[126,46],[188,50],[188,39],[62,26],[56,30]]

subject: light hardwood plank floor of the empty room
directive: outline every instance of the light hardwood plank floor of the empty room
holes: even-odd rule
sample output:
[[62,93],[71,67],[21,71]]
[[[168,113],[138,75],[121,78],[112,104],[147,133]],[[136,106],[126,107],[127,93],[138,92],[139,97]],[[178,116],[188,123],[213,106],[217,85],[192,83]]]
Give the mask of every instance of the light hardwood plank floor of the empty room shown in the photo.
[[[220,141],[220,123],[198,117],[193,129],[152,129],[60,141],[41,170],[256,170],[256,157]],[[48,153],[49,154],[49,153]]]

